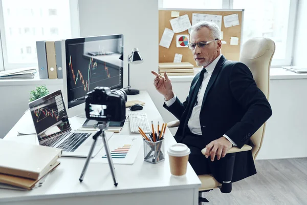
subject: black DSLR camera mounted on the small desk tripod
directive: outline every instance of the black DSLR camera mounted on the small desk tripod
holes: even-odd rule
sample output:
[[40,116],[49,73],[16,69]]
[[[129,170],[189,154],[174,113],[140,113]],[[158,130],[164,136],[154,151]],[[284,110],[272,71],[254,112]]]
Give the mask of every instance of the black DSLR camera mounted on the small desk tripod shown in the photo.
[[127,95],[122,89],[96,87],[85,98],[86,118],[122,122],[126,119],[126,101]]

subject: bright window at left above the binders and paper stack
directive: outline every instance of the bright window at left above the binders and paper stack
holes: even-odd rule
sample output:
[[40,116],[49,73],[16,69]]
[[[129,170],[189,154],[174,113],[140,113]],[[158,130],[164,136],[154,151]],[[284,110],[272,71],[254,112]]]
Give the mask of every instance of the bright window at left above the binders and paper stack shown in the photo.
[[0,13],[0,70],[37,66],[37,40],[79,36],[78,0],[0,0]]

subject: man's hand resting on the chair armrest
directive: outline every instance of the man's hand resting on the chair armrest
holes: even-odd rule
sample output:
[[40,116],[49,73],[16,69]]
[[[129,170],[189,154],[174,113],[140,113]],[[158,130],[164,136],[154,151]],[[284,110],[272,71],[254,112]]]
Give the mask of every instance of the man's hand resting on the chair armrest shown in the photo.
[[215,139],[211,141],[207,146],[207,150],[205,153],[206,158],[211,156],[211,161],[214,161],[214,157],[216,155],[217,160],[220,160],[221,157],[225,157],[227,151],[232,148],[232,144],[225,137],[221,137],[219,139]]

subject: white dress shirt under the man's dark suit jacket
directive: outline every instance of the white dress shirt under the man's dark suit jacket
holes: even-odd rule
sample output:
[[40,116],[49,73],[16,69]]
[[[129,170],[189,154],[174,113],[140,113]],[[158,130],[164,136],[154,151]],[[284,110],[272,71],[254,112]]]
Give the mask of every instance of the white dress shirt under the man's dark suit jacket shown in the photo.
[[[202,104],[203,104],[203,98],[204,98],[205,91],[206,91],[206,88],[208,86],[210,77],[212,75],[212,72],[213,72],[218,60],[220,60],[221,56],[222,56],[222,54],[220,54],[217,58],[215,58],[212,61],[212,63],[209,64],[206,67],[207,72],[204,73],[204,79],[203,79],[202,85],[200,87],[200,90],[197,94],[196,104],[193,107],[192,114],[191,114],[190,119],[188,121],[188,127],[189,127],[191,133],[193,133],[193,134],[202,135],[200,113],[201,113],[201,108],[202,108]],[[175,101],[176,101],[176,95],[174,95],[173,98],[171,98],[170,100],[165,101],[165,104],[169,107]],[[223,136],[226,137],[226,139],[228,139],[231,142],[232,145],[236,146],[234,141],[232,141],[227,135],[224,134]]]

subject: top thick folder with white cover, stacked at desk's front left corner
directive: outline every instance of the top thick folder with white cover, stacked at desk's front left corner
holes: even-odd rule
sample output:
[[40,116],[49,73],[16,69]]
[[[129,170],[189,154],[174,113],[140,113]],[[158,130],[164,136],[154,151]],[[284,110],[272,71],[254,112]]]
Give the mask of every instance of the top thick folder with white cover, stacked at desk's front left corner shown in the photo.
[[61,149],[0,140],[0,173],[37,180],[49,172]]

